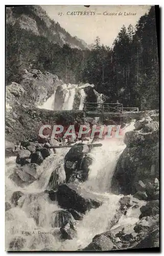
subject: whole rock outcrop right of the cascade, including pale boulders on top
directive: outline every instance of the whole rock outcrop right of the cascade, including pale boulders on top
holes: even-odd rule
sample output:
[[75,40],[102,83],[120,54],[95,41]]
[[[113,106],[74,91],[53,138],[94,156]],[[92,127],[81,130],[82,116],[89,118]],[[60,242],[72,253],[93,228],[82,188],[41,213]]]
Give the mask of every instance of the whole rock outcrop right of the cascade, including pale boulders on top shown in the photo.
[[[134,126],[134,131],[125,134],[124,142],[127,146],[120,156],[112,179],[115,193],[135,194],[137,182],[143,181],[148,188],[148,183],[153,183],[159,177],[159,124],[150,117],[145,117]],[[150,189],[147,189],[147,193],[148,190]],[[146,200],[144,194],[143,199]]]

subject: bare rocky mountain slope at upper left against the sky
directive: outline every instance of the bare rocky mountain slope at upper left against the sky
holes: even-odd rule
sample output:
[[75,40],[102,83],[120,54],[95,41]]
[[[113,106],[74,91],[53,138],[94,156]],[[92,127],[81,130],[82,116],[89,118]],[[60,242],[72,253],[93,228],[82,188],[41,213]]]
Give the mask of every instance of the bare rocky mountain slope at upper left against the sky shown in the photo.
[[84,50],[86,42],[71,36],[59,23],[52,20],[40,6],[15,6],[6,8],[7,24],[31,31],[34,35],[44,36],[54,44]]

